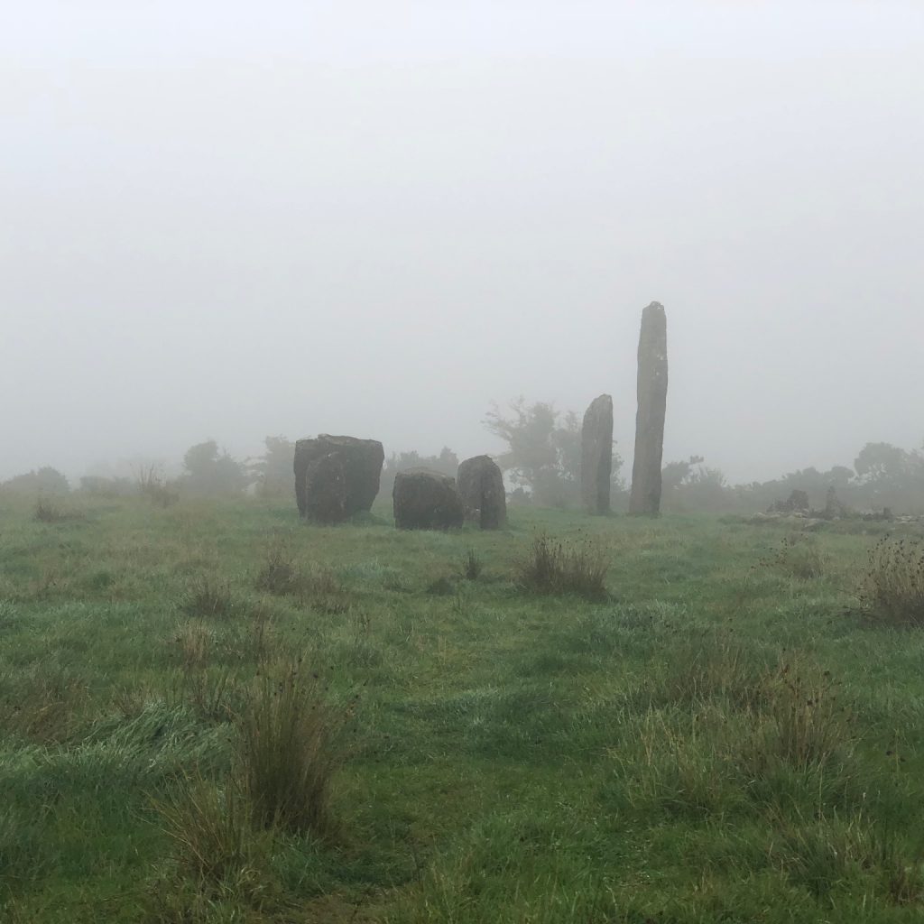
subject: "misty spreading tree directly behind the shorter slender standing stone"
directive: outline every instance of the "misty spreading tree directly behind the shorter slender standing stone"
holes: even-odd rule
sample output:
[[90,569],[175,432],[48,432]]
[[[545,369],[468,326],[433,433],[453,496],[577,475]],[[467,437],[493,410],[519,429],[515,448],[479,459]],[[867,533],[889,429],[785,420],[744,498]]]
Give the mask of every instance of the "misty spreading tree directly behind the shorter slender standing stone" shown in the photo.
[[[544,401],[527,404],[520,397],[505,416],[497,405],[487,413],[485,427],[507,444],[497,464],[515,485],[529,489],[536,503],[565,507],[580,500],[580,420],[573,410],[564,413]],[[622,459],[613,454],[614,490]]]

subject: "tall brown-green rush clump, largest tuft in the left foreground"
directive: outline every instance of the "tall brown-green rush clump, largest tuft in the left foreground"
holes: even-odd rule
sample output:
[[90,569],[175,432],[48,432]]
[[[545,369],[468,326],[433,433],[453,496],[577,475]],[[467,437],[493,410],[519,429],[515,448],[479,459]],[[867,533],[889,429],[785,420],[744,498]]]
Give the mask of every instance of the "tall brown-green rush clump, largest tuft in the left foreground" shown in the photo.
[[348,712],[335,711],[324,694],[300,663],[256,678],[237,725],[242,791],[259,827],[334,833],[330,790]]

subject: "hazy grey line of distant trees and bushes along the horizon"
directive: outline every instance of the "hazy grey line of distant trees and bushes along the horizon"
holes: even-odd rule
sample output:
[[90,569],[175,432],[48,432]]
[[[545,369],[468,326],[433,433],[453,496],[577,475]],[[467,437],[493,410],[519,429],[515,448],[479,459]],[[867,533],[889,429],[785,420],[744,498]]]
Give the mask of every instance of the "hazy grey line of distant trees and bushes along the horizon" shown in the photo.
[[[495,406],[484,420],[489,432],[505,444],[497,456],[504,469],[512,503],[571,508],[580,503],[580,425],[573,411],[559,412],[542,402],[520,399],[502,414]],[[77,490],[105,497],[146,493],[164,503],[181,496],[218,497],[249,492],[283,497],[292,492],[295,444],[285,436],[268,436],[261,456],[239,460],[214,440],[190,446],[181,473],[164,477],[161,468],[140,466],[132,477],[86,475]],[[407,468],[432,468],[456,475],[459,459],[449,447],[438,456],[416,451],[392,453],[385,460],[380,496],[390,496],[395,475]],[[625,510],[628,495],[623,460],[614,451],[613,508]],[[852,465],[827,471],[803,468],[770,481],[731,485],[718,468],[701,456],[667,463],[663,468],[662,508],[666,512],[752,513],[784,500],[793,491],[808,493],[821,509],[830,488],[839,501],[855,510],[891,508],[898,514],[924,514],[924,452],[887,443],[868,443]],[[66,494],[67,478],[55,468],[39,468],[0,483],[0,490],[31,494]]]

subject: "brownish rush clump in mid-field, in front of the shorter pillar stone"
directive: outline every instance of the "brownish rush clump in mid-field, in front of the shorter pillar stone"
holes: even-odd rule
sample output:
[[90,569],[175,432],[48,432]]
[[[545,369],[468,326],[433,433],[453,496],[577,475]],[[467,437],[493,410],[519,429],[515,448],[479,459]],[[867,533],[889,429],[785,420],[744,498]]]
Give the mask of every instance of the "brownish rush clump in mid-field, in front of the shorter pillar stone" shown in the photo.
[[533,593],[574,593],[587,600],[606,596],[606,556],[587,539],[552,539],[539,533],[517,563],[517,583]]

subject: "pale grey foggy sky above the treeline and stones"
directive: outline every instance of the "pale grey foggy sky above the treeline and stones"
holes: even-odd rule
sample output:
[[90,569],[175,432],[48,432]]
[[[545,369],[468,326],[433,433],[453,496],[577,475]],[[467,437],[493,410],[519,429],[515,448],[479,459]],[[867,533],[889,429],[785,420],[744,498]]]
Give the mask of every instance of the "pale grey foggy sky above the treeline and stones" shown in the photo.
[[651,300],[665,460],[924,440],[917,0],[8,7],[0,479],[521,394],[630,459]]

